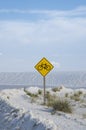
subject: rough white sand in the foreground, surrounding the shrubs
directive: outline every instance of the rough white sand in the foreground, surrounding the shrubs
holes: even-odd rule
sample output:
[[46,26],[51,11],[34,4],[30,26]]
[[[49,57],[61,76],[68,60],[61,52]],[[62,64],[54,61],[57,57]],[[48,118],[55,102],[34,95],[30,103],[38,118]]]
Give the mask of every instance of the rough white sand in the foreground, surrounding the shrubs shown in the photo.
[[[30,87],[27,91],[37,93],[39,88]],[[57,111],[41,105],[42,95],[37,101],[27,96],[24,89],[6,89],[0,91],[0,130],[86,130],[86,90],[72,90],[62,87],[51,94],[64,97],[66,93],[82,91],[79,101],[70,100],[73,113]],[[68,97],[69,99],[69,97]]]

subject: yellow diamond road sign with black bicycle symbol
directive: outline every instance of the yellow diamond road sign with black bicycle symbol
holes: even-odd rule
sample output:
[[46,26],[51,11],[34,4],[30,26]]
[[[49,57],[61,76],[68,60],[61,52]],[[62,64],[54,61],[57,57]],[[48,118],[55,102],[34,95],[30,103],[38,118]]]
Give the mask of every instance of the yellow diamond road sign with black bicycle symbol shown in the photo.
[[46,76],[54,66],[46,59],[42,58],[36,65],[35,69],[42,75]]

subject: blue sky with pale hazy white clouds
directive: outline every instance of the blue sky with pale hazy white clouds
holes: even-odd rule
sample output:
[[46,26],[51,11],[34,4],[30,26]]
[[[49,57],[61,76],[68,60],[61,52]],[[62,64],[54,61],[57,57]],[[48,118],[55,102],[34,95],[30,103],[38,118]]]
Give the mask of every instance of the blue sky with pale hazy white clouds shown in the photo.
[[0,72],[86,70],[86,0],[0,0]]

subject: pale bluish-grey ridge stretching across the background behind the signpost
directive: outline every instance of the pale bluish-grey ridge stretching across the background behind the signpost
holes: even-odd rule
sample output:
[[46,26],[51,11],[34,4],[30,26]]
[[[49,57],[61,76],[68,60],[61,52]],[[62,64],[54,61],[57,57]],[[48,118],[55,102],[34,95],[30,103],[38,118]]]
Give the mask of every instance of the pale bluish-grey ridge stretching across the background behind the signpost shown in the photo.
[[[43,77],[35,72],[1,72],[0,85],[42,86]],[[46,85],[64,85],[71,88],[86,88],[86,72],[53,72],[46,76]]]

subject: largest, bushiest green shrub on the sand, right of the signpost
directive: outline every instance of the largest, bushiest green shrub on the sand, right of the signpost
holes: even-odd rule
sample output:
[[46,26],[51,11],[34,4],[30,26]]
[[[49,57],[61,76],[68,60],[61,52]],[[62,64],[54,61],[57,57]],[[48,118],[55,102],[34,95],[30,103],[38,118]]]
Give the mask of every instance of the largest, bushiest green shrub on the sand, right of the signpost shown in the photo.
[[66,113],[72,113],[71,105],[66,100],[62,99],[56,100],[53,102],[52,107],[55,111],[58,110]]

